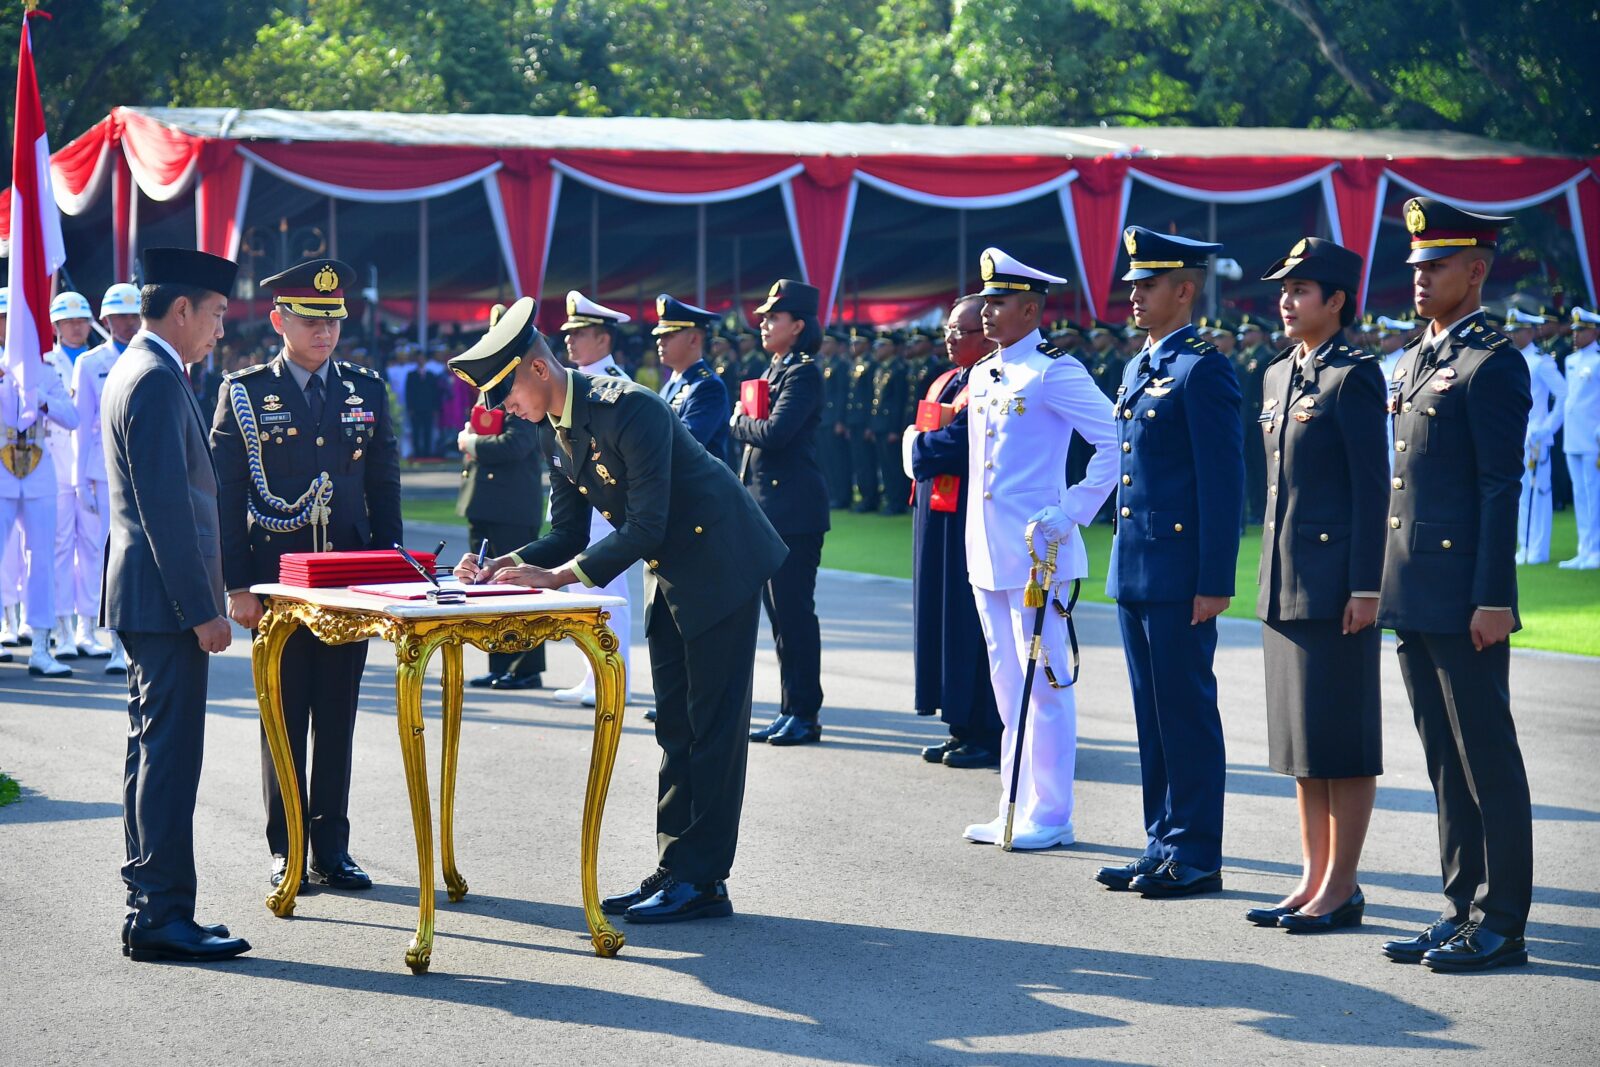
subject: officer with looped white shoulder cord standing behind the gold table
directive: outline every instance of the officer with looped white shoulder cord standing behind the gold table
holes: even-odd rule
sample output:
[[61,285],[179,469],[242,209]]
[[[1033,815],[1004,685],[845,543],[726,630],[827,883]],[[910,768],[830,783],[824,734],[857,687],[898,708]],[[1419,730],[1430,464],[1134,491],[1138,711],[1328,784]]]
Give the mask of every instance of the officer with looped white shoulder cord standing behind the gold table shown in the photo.
[[[227,376],[211,422],[222,512],[227,614],[261,621],[250,587],[278,581],[286,552],[387,549],[400,528],[400,456],[389,426],[389,387],[376,373],[333,358],[355,272],[312,259],[266,278],[272,328],[283,350]],[[296,506],[298,504],[298,506]],[[370,889],[350,859],[350,760],[366,641],[323,645],[299,629],[283,646],[283,718],[306,813],[310,881]],[[315,734],[310,781],[309,733]],[[269,880],[288,867],[288,827],[278,776],[261,731],[261,792],[267,809]]]

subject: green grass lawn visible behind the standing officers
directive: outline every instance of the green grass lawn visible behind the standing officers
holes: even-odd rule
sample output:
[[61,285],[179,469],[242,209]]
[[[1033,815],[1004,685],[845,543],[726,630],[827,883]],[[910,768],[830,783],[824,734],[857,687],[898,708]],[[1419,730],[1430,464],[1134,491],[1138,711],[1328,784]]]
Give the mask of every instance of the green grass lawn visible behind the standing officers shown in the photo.
[[[408,522],[461,523],[454,501],[406,501]],[[1090,553],[1090,577],[1083,600],[1106,603],[1106,565],[1110,558],[1110,526],[1083,531]],[[1565,560],[1578,550],[1573,514],[1555,514],[1550,558]],[[1227,614],[1256,617],[1256,563],[1261,530],[1251,528],[1238,547],[1238,595]],[[822,542],[822,566],[862,574],[910,577],[910,515],[854,515],[834,512],[834,528]],[[1555,563],[1517,568],[1522,632],[1520,648],[1600,656],[1600,571],[1563,571]]]

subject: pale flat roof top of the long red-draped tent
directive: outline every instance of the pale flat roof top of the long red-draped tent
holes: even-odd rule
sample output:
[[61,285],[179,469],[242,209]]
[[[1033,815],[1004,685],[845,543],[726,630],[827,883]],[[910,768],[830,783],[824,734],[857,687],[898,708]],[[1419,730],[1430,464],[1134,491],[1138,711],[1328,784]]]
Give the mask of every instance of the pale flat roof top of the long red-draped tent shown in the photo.
[[918,126],[749,118],[579,118],[294,112],[275,107],[130,107],[190,136],[235,141],[370,141],[498,149],[611,149],[770,155],[1325,157],[1485,158],[1557,155],[1466,133],[1274,126]]

